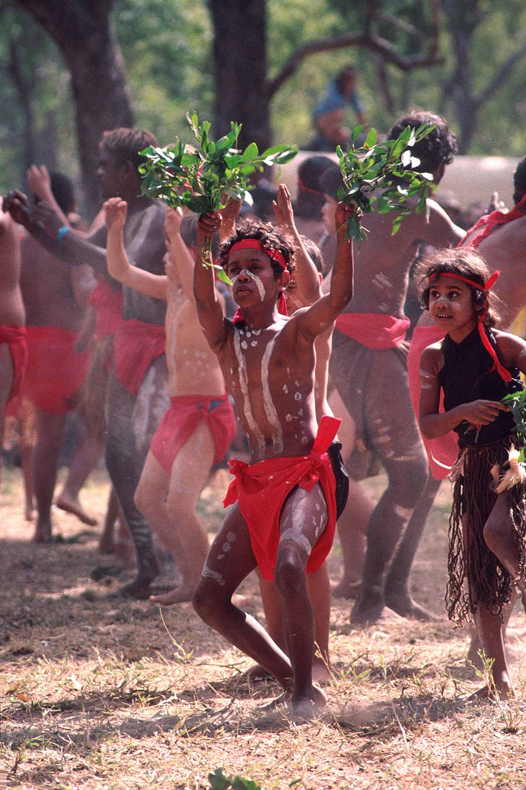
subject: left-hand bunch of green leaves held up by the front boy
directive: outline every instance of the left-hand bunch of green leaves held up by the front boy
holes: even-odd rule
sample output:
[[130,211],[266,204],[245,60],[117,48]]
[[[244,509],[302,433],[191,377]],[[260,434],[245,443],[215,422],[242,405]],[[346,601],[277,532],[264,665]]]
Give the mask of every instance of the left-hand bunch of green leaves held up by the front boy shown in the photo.
[[[141,151],[147,162],[140,166],[144,176],[142,193],[159,198],[172,209],[185,206],[196,214],[223,209],[229,200],[244,200],[252,205],[249,177],[263,171],[265,165],[285,164],[297,154],[297,146],[273,145],[259,153],[256,143],[241,151],[237,139],[241,124],[230,123],[230,131],[219,140],[209,136],[210,123],[200,124],[197,113],[187,114],[188,123],[198,142],[189,149],[176,138],[166,148],[149,147]],[[209,250],[207,250],[209,256]],[[212,265],[208,258],[208,265]],[[229,282],[220,266],[218,276]]]

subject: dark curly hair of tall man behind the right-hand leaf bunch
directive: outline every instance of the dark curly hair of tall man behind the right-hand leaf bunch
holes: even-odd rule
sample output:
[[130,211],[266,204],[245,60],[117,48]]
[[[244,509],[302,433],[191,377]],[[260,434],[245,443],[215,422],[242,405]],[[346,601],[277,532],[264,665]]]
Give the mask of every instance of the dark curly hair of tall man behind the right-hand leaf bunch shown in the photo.
[[410,111],[408,115],[394,123],[387,137],[389,140],[395,140],[406,126],[418,129],[423,123],[433,124],[435,129],[412,147],[413,156],[420,159],[420,165],[415,170],[435,173],[442,163],[451,164],[453,154],[458,150],[457,136],[450,130],[442,115],[437,115],[435,112]]

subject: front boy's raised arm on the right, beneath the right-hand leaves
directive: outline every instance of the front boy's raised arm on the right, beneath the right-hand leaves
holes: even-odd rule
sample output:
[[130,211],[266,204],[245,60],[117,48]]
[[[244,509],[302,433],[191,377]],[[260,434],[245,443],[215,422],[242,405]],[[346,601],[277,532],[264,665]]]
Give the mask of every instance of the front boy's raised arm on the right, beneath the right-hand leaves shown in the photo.
[[353,242],[345,239],[345,225],[353,205],[338,203],[336,209],[336,258],[330,280],[330,292],[318,299],[308,310],[298,310],[292,322],[308,337],[317,337],[338,318],[353,298]]

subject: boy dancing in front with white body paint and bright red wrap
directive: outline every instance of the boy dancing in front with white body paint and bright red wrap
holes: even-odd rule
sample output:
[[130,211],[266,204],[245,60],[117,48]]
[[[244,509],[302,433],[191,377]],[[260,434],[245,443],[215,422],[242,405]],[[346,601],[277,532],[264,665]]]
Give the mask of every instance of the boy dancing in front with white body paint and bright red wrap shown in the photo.
[[[199,222],[194,294],[205,337],[236,403],[252,464],[231,461],[235,480],[225,505],[234,504],[218,532],[193,597],[200,617],[281,683],[293,716],[311,718],[326,704],[312,683],[314,622],[306,574],[323,564],[334,538],[336,483],[326,450],[339,419],[315,416],[315,339],[330,329],[353,295],[352,243],[345,223],[353,211],[338,205],[338,251],[331,289],[288,318],[278,300],[293,271],[293,244],[266,224],[244,224],[222,245],[219,258],[240,310],[228,321],[201,250],[221,226],[220,214]],[[259,566],[282,598],[290,656],[233,593]]]

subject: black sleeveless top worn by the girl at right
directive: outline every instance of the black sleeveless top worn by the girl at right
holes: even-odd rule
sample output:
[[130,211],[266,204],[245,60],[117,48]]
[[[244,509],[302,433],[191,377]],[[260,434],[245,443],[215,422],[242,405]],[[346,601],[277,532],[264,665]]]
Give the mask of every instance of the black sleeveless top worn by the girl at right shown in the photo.
[[[491,329],[486,329],[486,334],[499,362],[502,363],[497,341]],[[517,367],[508,368],[513,377],[511,382],[503,381],[497,371],[491,371],[494,362],[483,347],[478,326],[460,343],[455,343],[449,335],[446,335],[442,340],[442,354],[444,367],[438,374],[438,381],[444,390],[446,412],[455,406],[479,399],[502,401],[505,395],[524,389]],[[493,423],[483,425],[479,431],[465,421],[453,430],[458,434],[463,445],[491,444],[517,432],[511,412],[498,412],[498,417]]]

